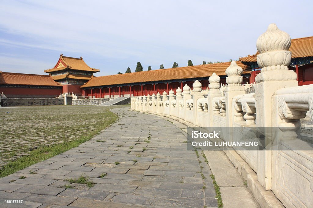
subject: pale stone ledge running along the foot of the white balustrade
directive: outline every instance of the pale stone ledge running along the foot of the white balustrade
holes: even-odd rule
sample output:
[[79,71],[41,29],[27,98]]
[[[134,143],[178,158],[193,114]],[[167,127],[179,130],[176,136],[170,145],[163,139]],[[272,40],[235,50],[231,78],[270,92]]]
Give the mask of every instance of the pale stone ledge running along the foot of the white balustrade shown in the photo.
[[[178,121],[179,123],[182,123],[186,125],[187,127],[191,128],[201,128],[193,123],[187,122],[183,119],[169,116],[165,114],[158,114],[158,113],[151,113],[146,111],[136,111],[129,109],[130,111],[134,112],[141,112],[146,114],[152,114],[156,116],[166,117],[169,119],[173,119],[175,121]],[[175,125],[175,124],[174,124]],[[259,183],[257,174],[252,170],[252,168],[244,161],[244,159],[232,148],[226,147],[221,149],[230,162],[233,163],[233,166],[237,169],[241,177],[243,177],[244,180],[247,181],[247,187],[249,191],[251,191],[252,195],[254,196],[255,200],[261,207],[266,208],[276,208],[276,207],[285,207],[283,204],[279,201],[279,199],[275,196],[273,191],[266,191],[265,188]]]

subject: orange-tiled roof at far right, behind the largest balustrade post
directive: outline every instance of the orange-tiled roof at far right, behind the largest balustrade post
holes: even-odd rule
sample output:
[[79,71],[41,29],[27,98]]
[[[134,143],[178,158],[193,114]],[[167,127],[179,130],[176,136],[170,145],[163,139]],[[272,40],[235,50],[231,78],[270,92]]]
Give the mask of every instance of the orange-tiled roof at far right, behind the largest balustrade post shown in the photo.
[[[313,36],[291,39],[291,58],[303,58],[313,56]],[[256,62],[259,51],[252,56],[241,57],[241,62]]]

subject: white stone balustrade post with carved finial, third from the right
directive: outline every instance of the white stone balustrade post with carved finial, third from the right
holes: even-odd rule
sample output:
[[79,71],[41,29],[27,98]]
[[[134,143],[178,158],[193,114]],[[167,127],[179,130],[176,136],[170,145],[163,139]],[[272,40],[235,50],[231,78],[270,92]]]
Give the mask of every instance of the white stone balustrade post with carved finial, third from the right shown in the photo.
[[220,84],[221,78],[215,74],[215,72],[212,74],[212,76],[209,77],[209,91],[208,91],[208,131],[213,131],[213,109],[214,103],[213,98],[215,97],[221,97],[222,91],[220,91],[221,84]]

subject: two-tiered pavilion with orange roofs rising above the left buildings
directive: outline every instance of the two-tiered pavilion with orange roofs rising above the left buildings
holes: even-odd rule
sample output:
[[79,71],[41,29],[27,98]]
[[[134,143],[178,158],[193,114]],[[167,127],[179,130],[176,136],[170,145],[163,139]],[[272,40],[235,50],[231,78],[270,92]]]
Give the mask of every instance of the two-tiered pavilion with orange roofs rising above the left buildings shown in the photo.
[[80,86],[91,79],[99,69],[89,67],[83,57],[73,58],[60,55],[57,64],[52,69],[44,70],[51,78],[63,85],[63,92],[73,92],[82,95]]

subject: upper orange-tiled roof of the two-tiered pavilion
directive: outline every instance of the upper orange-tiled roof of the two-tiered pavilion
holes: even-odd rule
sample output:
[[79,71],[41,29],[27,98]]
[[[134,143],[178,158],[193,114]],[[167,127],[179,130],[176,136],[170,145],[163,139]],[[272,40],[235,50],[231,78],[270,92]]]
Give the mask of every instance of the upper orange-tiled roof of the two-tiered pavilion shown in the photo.
[[83,60],[83,57],[73,58],[73,57],[63,56],[63,54],[61,54],[57,64],[52,69],[44,70],[44,72],[49,73],[53,71],[64,70],[66,68],[74,69],[74,70],[81,70],[81,71],[92,71],[92,72],[100,71],[99,69],[94,69],[94,68],[89,67]]

